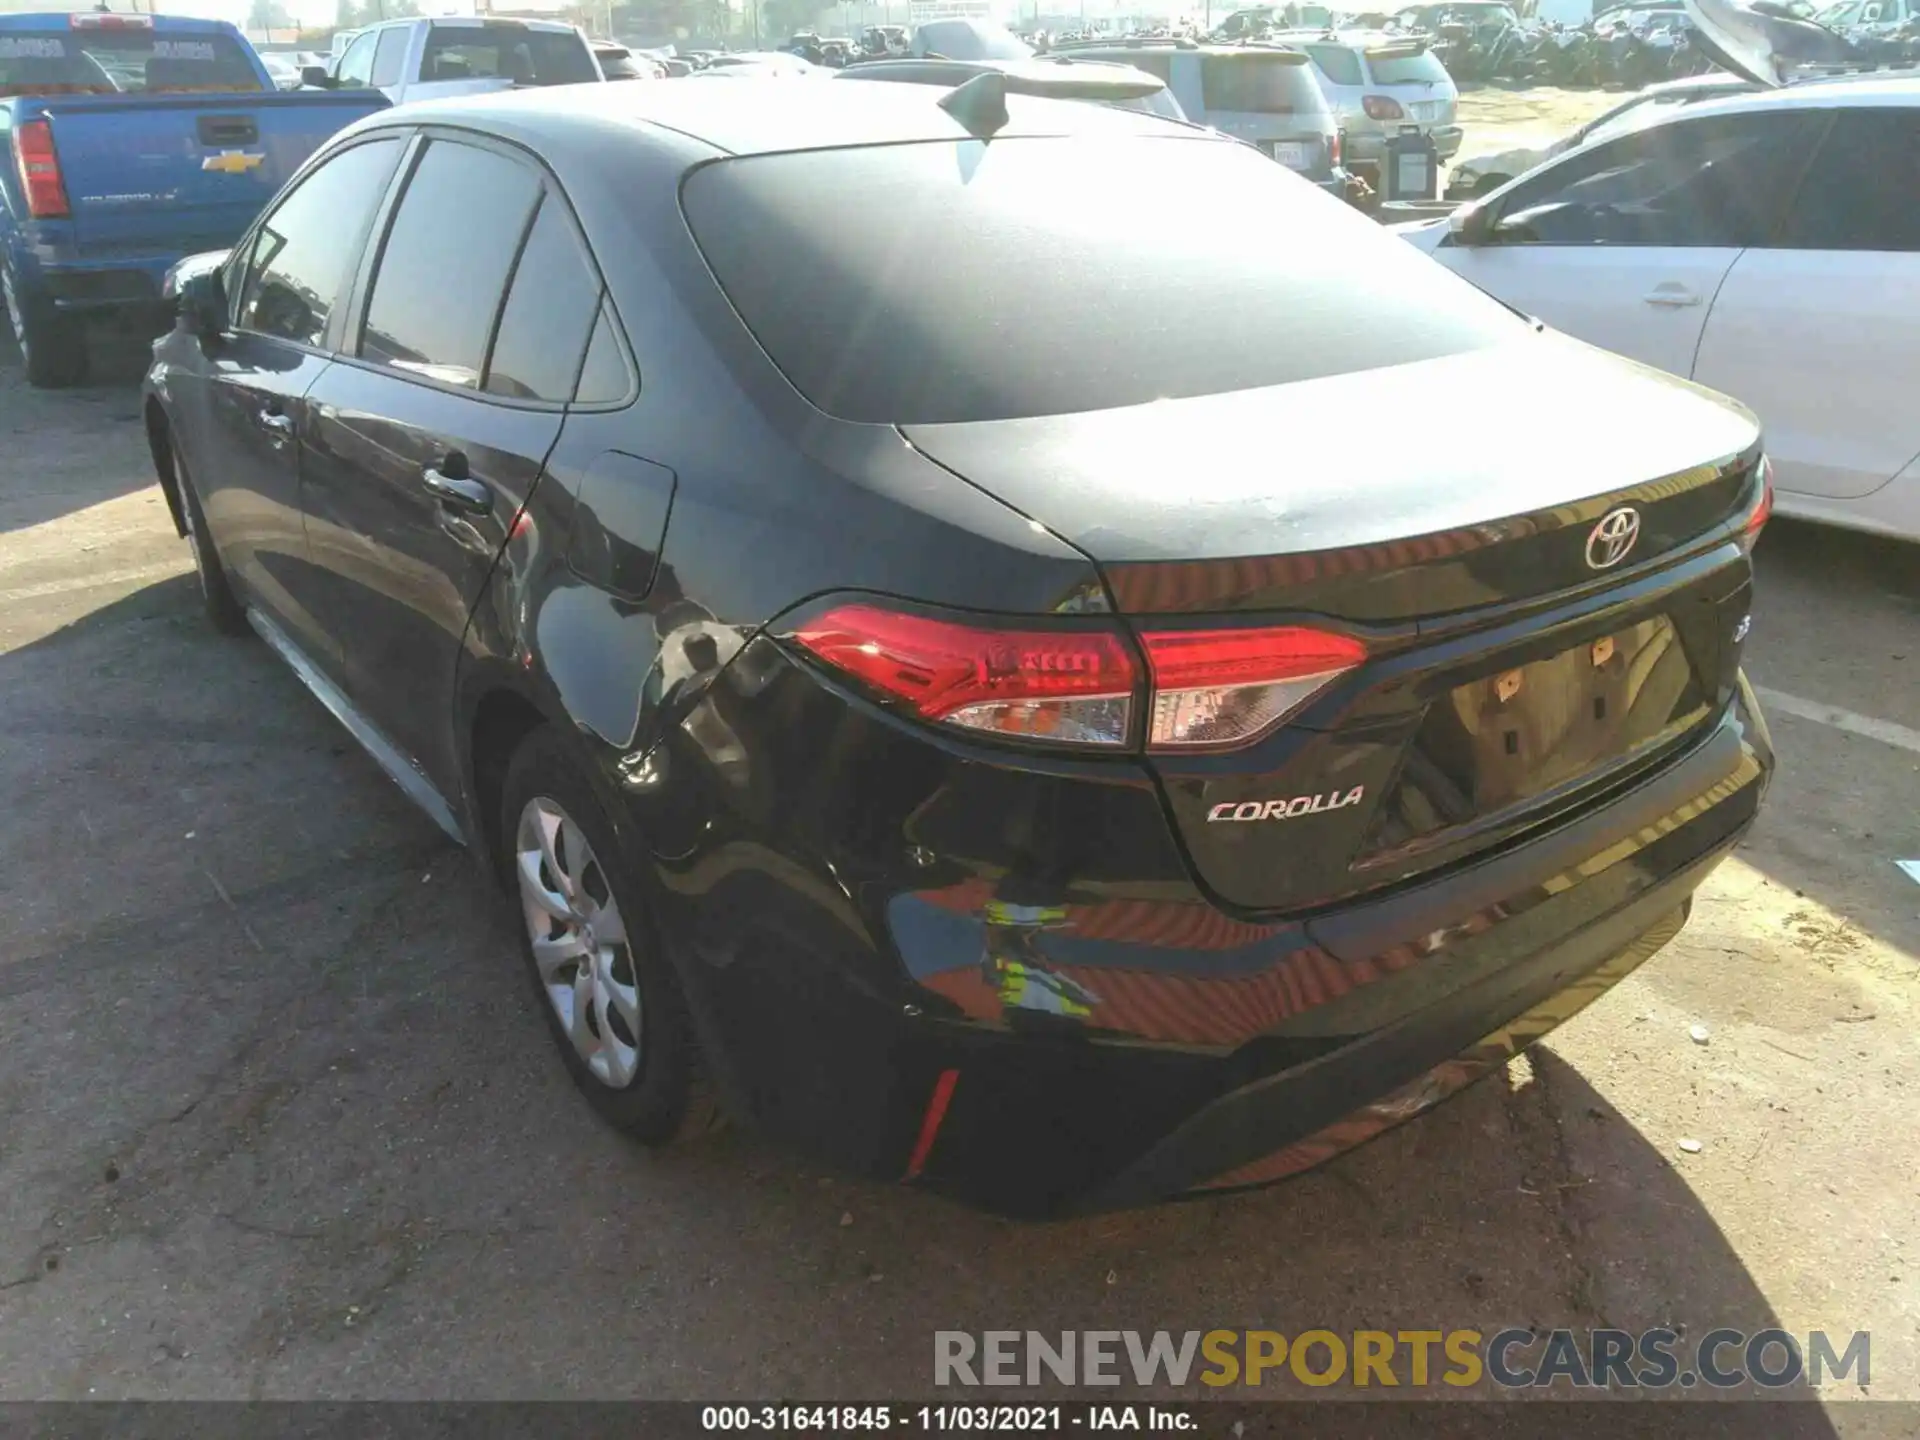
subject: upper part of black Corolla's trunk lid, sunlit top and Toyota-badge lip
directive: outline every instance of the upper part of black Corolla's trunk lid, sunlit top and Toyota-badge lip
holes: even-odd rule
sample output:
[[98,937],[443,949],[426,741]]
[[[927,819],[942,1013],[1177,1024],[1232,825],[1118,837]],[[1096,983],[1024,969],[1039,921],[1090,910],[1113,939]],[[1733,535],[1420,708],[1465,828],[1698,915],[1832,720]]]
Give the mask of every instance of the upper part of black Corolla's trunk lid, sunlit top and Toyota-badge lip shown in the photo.
[[[1475,420],[1488,396],[1498,426]],[[1586,530],[1622,501],[1642,515],[1634,564],[1693,540],[1734,513],[1759,426],[1709,390],[1542,334],[1267,390],[902,434],[1085,551],[1123,612],[1382,624],[1594,582]]]

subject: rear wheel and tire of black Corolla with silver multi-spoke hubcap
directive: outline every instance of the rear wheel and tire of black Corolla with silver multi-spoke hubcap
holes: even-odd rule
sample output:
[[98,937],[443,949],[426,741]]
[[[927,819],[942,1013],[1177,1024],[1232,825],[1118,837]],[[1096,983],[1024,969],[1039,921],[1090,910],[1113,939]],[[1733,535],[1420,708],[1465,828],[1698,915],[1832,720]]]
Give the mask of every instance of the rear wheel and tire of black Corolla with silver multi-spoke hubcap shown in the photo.
[[645,887],[622,872],[612,826],[551,726],[507,766],[499,847],[534,993],[574,1085],[641,1144],[714,1129],[718,1104]]

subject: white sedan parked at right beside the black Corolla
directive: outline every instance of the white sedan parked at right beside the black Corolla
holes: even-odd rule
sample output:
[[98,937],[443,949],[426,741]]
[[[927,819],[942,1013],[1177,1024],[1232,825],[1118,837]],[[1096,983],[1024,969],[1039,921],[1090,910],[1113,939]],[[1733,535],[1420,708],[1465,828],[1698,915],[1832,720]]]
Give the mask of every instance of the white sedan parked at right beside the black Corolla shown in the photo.
[[1916,198],[1920,79],[1859,79],[1701,100],[1396,228],[1559,330],[1747,403],[1782,515],[1920,540]]

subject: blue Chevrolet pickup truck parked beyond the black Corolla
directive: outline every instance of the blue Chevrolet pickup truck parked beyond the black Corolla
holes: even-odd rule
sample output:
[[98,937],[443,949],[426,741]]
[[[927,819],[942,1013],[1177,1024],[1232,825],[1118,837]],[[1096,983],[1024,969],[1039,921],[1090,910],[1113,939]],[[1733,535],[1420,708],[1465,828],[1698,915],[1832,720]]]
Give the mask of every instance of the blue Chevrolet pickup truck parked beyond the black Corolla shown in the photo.
[[86,376],[96,319],[152,332],[161,276],[221,250],[378,90],[275,88],[227,21],[0,15],[0,294],[36,386]]

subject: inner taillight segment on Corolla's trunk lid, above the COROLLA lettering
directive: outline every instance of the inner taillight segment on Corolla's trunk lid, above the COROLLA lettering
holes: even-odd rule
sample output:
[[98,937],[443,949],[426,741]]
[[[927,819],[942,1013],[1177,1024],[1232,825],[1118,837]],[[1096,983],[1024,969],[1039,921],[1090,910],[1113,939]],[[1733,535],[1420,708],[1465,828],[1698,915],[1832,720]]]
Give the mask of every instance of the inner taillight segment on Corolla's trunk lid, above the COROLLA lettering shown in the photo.
[[1212,751],[1269,733],[1367,647],[1325,630],[1158,630],[1140,636],[1154,672],[1146,745]]

